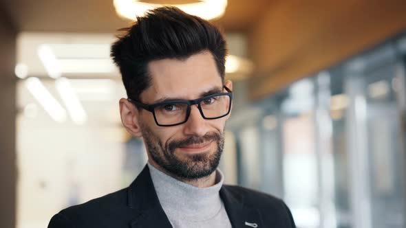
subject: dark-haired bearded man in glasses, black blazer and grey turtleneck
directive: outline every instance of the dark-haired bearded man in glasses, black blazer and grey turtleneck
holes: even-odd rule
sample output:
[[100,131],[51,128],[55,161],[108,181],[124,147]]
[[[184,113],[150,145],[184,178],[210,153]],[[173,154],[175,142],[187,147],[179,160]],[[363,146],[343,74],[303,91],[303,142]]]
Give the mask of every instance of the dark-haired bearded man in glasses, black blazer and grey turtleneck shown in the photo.
[[147,166],[129,187],[64,209],[49,227],[295,227],[283,201],[222,184],[233,84],[216,27],[158,8],[125,29],[111,56],[128,95],[122,124],[144,139]]

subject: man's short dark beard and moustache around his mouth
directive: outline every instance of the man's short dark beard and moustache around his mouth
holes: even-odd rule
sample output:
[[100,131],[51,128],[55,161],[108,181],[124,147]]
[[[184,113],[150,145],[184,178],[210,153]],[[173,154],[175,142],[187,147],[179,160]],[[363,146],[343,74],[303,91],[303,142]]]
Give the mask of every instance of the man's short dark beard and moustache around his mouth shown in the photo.
[[[219,166],[224,148],[224,133],[212,132],[202,137],[191,136],[179,141],[167,141],[165,145],[147,126],[142,126],[142,136],[153,161],[167,172],[181,179],[200,179],[209,176]],[[185,159],[175,155],[175,149],[191,144],[213,141],[217,144],[215,152],[202,152],[186,155]]]

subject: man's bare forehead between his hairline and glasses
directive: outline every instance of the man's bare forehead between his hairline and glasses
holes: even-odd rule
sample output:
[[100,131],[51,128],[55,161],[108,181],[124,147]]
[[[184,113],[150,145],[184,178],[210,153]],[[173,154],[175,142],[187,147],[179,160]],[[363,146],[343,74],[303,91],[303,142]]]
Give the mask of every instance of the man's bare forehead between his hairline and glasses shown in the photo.
[[142,93],[142,100],[153,102],[165,98],[195,99],[201,93],[222,88],[222,78],[210,52],[189,58],[162,59],[149,62],[151,87]]

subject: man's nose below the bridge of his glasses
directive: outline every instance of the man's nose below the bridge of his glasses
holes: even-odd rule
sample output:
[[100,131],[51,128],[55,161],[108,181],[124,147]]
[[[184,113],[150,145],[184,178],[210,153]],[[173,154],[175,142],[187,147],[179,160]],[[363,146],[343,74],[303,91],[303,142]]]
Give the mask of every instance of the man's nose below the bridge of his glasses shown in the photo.
[[200,114],[197,104],[191,106],[189,119],[184,123],[185,135],[203,136],[209,131],[207,119],[204,119]]

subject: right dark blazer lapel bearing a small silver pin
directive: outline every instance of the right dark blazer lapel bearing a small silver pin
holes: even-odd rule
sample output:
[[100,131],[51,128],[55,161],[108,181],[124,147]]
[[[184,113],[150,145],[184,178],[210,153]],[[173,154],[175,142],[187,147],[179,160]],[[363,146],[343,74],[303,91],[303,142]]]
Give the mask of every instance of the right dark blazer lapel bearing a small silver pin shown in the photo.
[[223,186],[220,190],[220,197],[234,228],[264,227],[259,211],[244,205],[242,196],[231,192],[227,186]]

